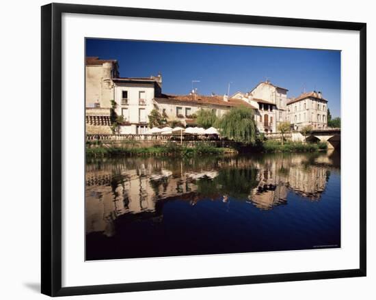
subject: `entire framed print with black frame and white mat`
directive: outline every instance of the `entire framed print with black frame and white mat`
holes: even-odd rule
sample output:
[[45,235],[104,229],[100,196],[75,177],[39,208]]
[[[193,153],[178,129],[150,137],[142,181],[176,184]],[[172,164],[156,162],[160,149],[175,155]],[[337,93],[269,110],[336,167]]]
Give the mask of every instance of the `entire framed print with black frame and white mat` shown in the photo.
[[42,293],[365,275],[366,24],[42,7]]

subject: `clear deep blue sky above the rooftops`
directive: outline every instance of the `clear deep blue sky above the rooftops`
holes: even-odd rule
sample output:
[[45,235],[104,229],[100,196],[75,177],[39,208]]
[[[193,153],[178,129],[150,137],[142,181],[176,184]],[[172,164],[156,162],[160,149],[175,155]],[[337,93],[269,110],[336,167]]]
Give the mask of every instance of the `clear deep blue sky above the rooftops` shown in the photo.
[[161,72],[165,94],[188,94],[192,80],[200,94],[225,94],[229,82],[230,94],[247,92],[268,78],[288,97],[321,91],[340,116],[340,51],[87,39],[86,55],[117,59],[121,77]]

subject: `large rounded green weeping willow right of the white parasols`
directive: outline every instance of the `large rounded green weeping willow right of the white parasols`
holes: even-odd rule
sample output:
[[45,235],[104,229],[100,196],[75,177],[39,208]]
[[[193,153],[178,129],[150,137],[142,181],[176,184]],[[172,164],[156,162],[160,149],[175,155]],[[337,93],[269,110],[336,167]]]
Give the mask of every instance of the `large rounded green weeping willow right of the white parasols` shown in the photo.
[[257,126],[254,122],[254,111],[248,107],[230,109],[217,122],[221,135],[234,141],[253,144],[256,141]]

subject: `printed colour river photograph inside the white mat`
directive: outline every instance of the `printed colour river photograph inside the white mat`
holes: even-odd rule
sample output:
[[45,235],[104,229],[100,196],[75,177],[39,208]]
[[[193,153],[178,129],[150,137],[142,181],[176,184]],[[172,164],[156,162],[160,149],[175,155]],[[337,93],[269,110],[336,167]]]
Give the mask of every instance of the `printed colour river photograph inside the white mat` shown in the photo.
[[341,247],[340,51],[85,38],[84,59],[85,260]]

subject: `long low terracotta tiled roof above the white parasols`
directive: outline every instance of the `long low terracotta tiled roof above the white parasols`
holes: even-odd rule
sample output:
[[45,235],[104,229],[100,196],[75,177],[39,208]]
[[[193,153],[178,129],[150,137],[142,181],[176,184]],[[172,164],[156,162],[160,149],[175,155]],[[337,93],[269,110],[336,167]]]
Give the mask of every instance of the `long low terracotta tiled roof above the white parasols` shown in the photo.
[[203,104],[203,105],[217,105],[222,107],[239,107],[241,105],[250,107],[252,109],[257,109],[250,103],[245,102],[240,99],[228,99],[225,101],[221,96],[203,96],[203,95],[166,95],[162,94],[160,97],[155,98],[155,100],[161,101],[174,101],[182,103],[192,103],[192,104]]

